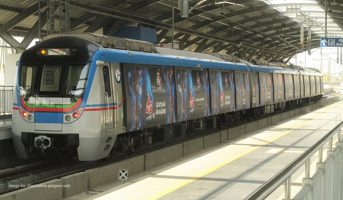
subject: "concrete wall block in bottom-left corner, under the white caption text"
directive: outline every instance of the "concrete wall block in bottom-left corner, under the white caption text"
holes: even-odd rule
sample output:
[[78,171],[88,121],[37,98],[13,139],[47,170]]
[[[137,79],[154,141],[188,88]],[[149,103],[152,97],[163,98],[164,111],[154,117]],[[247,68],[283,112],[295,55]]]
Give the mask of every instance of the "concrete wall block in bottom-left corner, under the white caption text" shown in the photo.
[[[28,187],[4,195],[0,195],[1,200],[60,200],[62,199],[61,179],[55,179],[40,184],[42,187]],[[50,188],[49,188],[50,186]],[[52,187],[51,187],[52,186]]]

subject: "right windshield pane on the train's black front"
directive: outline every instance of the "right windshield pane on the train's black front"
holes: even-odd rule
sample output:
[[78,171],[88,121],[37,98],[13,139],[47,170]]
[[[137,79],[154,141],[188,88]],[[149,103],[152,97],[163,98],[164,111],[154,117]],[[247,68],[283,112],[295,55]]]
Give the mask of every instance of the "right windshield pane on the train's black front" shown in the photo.
[[[74,96],[82,96],[86,87],[89,64],[70,64],[68,67],[68,86]],[[67,88],[65,93],[69,94]]]

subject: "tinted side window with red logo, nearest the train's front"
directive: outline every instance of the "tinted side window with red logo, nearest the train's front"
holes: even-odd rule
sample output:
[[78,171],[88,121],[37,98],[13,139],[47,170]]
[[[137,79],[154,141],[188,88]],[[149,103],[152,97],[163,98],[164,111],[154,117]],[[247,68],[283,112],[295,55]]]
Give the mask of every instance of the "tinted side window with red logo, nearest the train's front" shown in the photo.
[[150,69],[150,82],[151,90],[153,94],[166,94],[167,93],[167,81],[164,76],[164,70],[162,68]]

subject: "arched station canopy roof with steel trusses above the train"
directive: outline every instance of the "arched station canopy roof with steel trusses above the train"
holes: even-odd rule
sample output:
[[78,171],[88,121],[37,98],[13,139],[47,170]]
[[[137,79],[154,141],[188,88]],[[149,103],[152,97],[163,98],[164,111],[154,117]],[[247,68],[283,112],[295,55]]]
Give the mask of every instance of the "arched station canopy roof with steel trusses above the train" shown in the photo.
[[[63,0],[64,1],[64,0]],[[113,34],[120,26],[157,30],[157,43],[174,42],[194,52],[240,54],[264,60],[289,60],[300,52],[300,24],[307,49],[324,37],[325,0],[191,0],[188,18],[181,17],[180,0],[69,0],[71,32]],[[225,1],[225,3],[221,3]],[[329,0],[328,0],[329,2]],[[59,32],[59,0],[55,0],[55,32]],[[343,37],[343,0],[328,5],[327,36]],[[42,35],[46,34],[47,1],[40,0]],[[18,43],[13,37],[25,37]],[[16,48],[27,48],[38,37],[38,0],[0,0],[0,37]]]

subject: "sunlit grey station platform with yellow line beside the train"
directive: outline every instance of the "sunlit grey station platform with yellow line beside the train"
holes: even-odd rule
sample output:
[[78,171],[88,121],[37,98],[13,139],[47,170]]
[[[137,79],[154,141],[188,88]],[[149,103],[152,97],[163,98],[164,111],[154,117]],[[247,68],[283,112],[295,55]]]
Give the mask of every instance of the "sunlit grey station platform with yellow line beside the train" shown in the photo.
[[[240,200],[281,171],[343,120],[343,101],[245,134],[205,155],[87,200]],[[317,156],[318,157],[318,156]],[[316,159],[311,160],[315,167]],[[296,174],[301,180],[303,174]],[[130,180],[129,180],[130,181]],[[301,186],[301,181],[300,181]],[[281,187],[281,186],[280,186]],[[284,188],[284,186],[283,186]],[[268,199],[282,199],[283,188]]]

